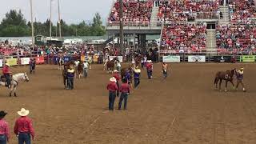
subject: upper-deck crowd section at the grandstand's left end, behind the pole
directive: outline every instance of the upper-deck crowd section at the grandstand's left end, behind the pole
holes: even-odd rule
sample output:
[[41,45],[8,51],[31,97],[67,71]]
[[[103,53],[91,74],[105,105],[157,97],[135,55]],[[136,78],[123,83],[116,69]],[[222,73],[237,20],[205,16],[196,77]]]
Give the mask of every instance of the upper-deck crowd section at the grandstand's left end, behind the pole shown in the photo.
[[[119,1],[114,3],[111,10],[109,24],[119,24]],[[123,21],[124,25],[148,25],[153,7],[153,1],[124,0]]]

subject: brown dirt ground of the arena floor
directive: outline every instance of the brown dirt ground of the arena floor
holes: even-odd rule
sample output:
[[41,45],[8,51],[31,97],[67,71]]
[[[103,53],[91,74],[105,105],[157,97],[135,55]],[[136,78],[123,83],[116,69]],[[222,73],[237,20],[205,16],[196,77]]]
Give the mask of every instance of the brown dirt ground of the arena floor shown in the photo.
[[[218,70],[245,67],[248,92],[214,90]],[[56,66],[38,66],[30,82],[18,87],[18,98],[0,90],[0,110],[13,131],[17,111],[25,107],[34,120],[34,144],[255,144],[256,66],[254,64],[172,64],[166,81],[160,64],[154,79],[142,71],[141,85],[128,99],[128,110],[108,109],[109,74],[94,65],[89,78],[63,90]],[[14,73],[27,67],[13,67]],[[224,85],[222,85],[224,87]],[[118,99],[116,99],[115,107]],[[17,143],[14,134],[10,144]]]

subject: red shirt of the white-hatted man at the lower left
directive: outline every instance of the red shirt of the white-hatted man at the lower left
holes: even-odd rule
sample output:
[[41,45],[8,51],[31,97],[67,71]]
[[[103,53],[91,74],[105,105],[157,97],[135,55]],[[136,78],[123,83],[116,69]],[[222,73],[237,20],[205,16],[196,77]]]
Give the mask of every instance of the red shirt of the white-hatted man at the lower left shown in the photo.
[[30,133],[34,138],[34,128],[32,126],[32,120],[28,117],[18,118],[14,126],[14,134],[18,133]]

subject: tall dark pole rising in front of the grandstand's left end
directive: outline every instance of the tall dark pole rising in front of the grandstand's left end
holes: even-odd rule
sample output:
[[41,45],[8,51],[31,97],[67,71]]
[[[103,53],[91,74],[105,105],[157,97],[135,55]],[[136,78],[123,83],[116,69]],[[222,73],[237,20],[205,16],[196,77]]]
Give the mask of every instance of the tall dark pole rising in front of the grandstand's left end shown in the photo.
[[119,12],[119,19],[120,19],[120,53],[124,55],[124,48],[123,48],[123,2],[119,0],[120,12]]

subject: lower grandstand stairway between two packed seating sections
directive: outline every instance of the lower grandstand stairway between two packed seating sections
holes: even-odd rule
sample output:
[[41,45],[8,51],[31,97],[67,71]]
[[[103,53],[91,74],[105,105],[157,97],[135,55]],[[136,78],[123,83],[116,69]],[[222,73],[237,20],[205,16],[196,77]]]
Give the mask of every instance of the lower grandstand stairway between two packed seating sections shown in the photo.
[[209,54],[217,54],[216,30],[207,29],[206,32],[206,51]]

